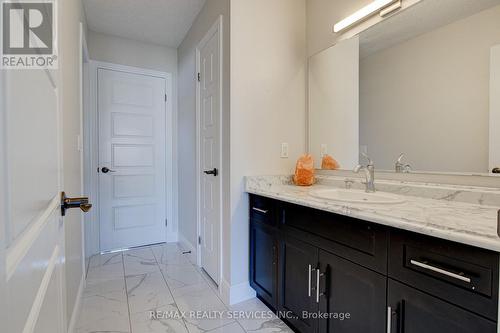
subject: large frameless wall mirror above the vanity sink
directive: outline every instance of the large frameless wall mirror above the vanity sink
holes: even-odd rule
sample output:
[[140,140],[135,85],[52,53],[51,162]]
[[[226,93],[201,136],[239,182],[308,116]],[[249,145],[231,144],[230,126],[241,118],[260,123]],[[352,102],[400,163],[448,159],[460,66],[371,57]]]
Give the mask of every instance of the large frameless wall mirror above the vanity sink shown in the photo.
[[395,170],[403,153],[403,172],[491,173],[500,0],[421,0],[312,56],[308,112],[318,162],[328,154],[351,169],[365,153]]

